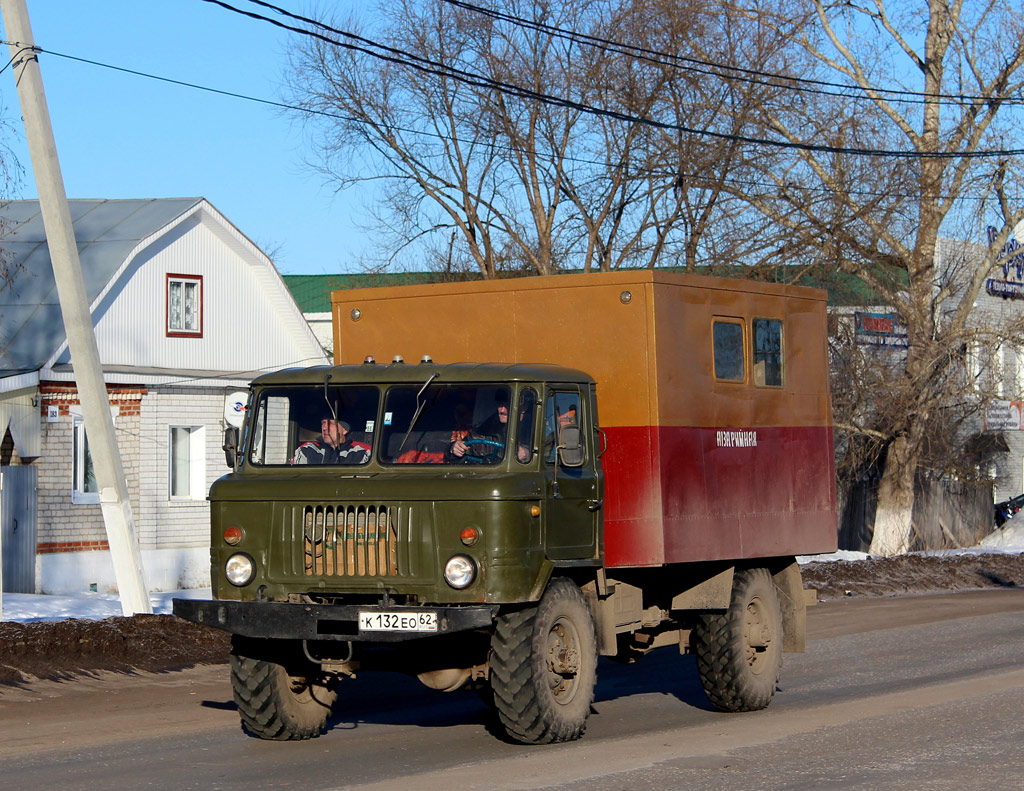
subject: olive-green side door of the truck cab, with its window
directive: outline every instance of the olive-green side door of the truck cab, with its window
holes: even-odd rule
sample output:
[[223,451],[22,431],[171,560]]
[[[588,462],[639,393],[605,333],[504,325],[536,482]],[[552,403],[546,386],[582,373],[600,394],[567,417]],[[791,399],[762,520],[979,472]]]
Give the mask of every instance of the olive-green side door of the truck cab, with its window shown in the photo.
[[[547,502],[544,528],[545,546],[552,560],[598,556],[601,504],[588,394],[579,385],[553,385],[545,399],[542,454]],[[562,430],[566,426],[580,429],[582,464],[558,452],[559,438],[567,435]]]

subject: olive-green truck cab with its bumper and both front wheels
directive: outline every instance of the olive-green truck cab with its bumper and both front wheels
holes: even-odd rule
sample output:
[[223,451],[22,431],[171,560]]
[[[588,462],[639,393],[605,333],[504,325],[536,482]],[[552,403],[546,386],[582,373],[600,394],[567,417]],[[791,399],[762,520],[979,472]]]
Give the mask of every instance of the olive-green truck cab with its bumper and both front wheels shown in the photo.
[[[174,612],[232,633],[249,731],[315,736],[341,679],[397,668],[435,689],[489,684],[520,741],[583,733],[597,638],[582,586],[603,564],[590,376],[287,370],[252,383],[240,439],[210,491],[214,598]],[[530,635],[544,602],[542,656]],[[513,678],[524,663],[540,679],[528,694]],[[524,721],[524,695],[539,722]]]

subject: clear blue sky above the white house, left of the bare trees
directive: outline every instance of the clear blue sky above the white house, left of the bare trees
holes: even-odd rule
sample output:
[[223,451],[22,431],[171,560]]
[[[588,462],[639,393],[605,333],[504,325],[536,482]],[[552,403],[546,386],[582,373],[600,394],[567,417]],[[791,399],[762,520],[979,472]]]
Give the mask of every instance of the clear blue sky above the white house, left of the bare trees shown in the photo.
[[[44,50],[281,99],[289,35],[266,23],[202,0],[28,0],[28,7]],[[51,54],[40,67],[69,198],[203,197],[285,275],[359,270],[358,201],[336,195],[304,165],[309,152],[294,117]],[[8,143],[26,171],[11,197],[36,198],[10,69],[0,75],[0,99],[15,135]]]

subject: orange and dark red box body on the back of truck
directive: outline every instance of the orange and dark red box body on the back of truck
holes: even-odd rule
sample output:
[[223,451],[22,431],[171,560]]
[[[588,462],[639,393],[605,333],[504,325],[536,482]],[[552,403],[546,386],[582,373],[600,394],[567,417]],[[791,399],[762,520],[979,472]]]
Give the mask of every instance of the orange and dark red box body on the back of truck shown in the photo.
[[825,294],[651,270],[336,291],[337,364],[597,382],[607,569],[836,549]]

